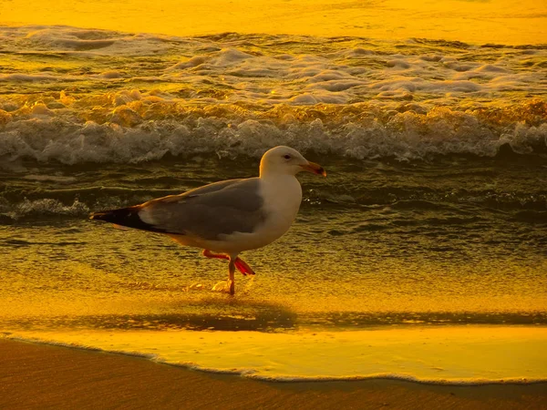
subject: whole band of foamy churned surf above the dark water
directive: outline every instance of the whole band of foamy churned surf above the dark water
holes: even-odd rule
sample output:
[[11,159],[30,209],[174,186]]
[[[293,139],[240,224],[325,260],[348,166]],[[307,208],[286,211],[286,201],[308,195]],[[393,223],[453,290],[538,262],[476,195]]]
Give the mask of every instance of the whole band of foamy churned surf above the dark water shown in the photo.
[[[288,144],[355,159],[542,153],[541,46],[1,27],[0,157],[66,164]],[[26,56],[40,56],[28,65]],[[63,58],[59,58],[63,56]]]

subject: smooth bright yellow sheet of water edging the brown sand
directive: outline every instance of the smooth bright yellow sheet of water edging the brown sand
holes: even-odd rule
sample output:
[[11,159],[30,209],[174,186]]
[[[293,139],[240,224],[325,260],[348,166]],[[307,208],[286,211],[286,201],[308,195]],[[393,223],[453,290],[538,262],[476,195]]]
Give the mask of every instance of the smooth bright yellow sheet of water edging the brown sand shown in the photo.
[[5,337],[129,354],[270,382],[547,382],[544,357],[538,350],[545,341],[545,329],[538,327],[402,326],[335,333],[26,331]]

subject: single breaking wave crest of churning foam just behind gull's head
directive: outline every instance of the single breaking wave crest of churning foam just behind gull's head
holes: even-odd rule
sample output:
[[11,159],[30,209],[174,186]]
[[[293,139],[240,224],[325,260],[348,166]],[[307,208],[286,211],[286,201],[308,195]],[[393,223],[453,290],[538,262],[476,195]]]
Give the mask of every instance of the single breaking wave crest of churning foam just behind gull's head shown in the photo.
[[[253,111],[239,106],[182,108],[139,96],[114,108],[109,118],[95,121],[63,118],[45,113],[47,109],[35,105],[23,118],[13,116],[0,126],[0,157],[64,164],[135,163],[166,155],[259,158],[275,145],[353,159],[493,157],[503,146],[518,154],[547,151],[547,103],[542,101],[506,110],[432,108],[426,113],[408,105],[385,112],[366,103]],[[515,116],[519,110],[521,115]],[[98,115],[97,109],[92,112]]]

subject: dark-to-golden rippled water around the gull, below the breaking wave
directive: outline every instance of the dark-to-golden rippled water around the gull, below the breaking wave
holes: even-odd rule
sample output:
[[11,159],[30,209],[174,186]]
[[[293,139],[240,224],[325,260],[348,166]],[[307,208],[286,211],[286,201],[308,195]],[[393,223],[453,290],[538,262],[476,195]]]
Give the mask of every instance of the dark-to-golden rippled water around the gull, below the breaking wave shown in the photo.
[[[1,174],[0,321],[8,328],[273,330],[394,323],[546,323],[547,161],[310,156],[281,240],[226,265],[157,234],[87,220],[217,179],[255,159],[140,165],[10,163]],[[16,168],[15,168],[16,166]]]

